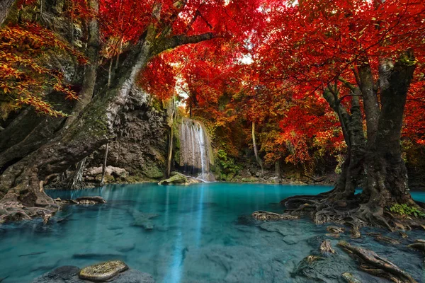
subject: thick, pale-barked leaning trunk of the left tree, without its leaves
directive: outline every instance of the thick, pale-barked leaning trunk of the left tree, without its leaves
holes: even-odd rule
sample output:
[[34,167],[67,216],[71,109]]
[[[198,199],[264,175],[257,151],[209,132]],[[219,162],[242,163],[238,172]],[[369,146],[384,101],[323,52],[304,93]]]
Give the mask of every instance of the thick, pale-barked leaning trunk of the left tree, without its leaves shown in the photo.
[[140,70],[152,56],[152,37],[140,42],[123,64],[120,81],[105,91],[82,112],[67,131],[41,146],[0,176],[1,203],[18,202],[25,207],[56,207],[42,185],[52,174],[62,173],[89,156],[115,135],[115,119],[128,99]]

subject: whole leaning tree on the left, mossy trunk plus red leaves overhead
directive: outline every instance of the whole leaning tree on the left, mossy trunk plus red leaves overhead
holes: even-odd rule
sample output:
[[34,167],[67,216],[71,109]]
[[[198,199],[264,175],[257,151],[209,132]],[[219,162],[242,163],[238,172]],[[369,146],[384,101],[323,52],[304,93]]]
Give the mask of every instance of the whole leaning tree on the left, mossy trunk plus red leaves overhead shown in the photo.
[[[54,138],[18,162],[4,163],[0,203],[26,200],[27,207],[56,209],[55,202],[45,195],[43,184],[115,137],[118,114],[130,92],[135,91],[140,72],[149,62],[162,64],[158,56],[163,53],[171,54],[176,47],[205,40],[216,38],[213,42],[217,45],[231,38],[244,42],[262,16],[261,1],[257,0],[90,2],[89,17],[94,20],[89,25],[96,29],[98,23],[101,39],[120,37],[125,45],[123,59],[115,69],[110,86],[98,83],[96,88],[93,80],[93,85],[87,84],[84,96],[88,103],[82,104],[72,116],[72,122],[65,123],[66,127]],[[241,22],[244,25],[240,25]],[[100,52],[98,42],[92,43],[92,51]],[[97,62],[91,63],[91,77],[96,81],[103,79],[99,78]]]

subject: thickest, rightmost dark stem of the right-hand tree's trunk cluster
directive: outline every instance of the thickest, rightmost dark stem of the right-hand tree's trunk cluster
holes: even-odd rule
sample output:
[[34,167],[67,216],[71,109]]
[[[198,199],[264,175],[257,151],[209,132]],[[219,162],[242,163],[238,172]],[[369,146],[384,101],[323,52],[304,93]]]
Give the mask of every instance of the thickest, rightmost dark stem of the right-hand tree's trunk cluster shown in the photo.
[[415,69],[411,52],[403,54],[393,66],[380,62],[381,104],[375,143],[366,158],[367,207],[376,213],[388,204],[414,204],[407,186],[407,169],[402,160],[400,137],[407,91]]

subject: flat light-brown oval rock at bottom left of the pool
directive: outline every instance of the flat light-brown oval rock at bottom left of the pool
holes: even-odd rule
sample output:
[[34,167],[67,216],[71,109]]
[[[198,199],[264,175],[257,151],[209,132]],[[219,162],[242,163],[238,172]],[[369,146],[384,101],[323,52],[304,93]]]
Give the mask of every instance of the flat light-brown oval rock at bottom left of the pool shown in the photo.
[[79,272],[81,279],[87,279],[91,281],[106,281],[111,279],[120,272],[128,270],[128,266],[121,260],[111,260],[107,262],[98,263],[97,265],[90,265],[84,267]]

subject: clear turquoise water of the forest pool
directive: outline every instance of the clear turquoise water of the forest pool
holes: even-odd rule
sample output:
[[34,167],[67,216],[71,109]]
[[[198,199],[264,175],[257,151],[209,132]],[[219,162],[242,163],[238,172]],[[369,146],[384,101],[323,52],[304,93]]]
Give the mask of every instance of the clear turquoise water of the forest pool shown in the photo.
[[[388,233],[402,241],[398,247],[369,237],[351,240],[348,233],[330,238],[337,254],[313,271],[305,270],[308,277],[295,276],[300,260],[329,238],[324,236],[326,226],[309,219],[260,222],[249,215],[259,209],[280,212],[278,202],[285,197],[329,189],[202,183],[52,191],[52,197],[62,198],[101,195],[108,203],[69,206],[47,225],[35,220],[0,226],[0,281],[6,277],[2,283],[31,282],[61,265],[84,267],[121,259],[157,282],[343,282],[342,272],[353,272],[363,282],[386,282],[357,271],[356,262],[336,247],[344,239],[375,250],[425,282],[423,255],[406,248],[414,239],[425,238],[420,231],[409,232],[407,239]],[[424,201],[425,193],[414,192],[414,197]],[[158,216],[149,219],[152,214]]]

